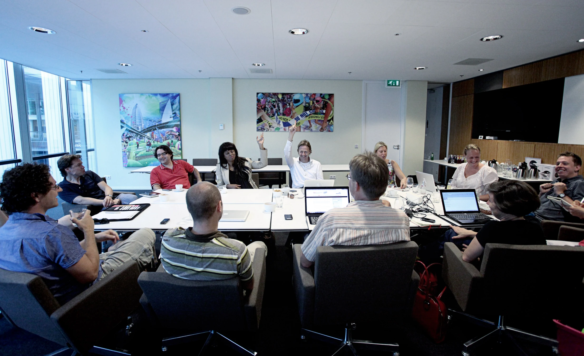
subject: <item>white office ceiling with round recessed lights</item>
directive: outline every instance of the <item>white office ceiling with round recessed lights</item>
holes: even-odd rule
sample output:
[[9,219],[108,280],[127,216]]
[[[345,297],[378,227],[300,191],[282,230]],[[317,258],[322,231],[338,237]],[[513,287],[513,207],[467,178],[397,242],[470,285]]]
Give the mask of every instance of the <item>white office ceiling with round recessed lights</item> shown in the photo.
[[[0,1],[0,58],[72,79],[454,82],[584,48],[581,0]],[[479,41],[493,34],[504,37]],[[467,58],[493,60],[453,65]],[[272,74],[251,73],[255,62]]]

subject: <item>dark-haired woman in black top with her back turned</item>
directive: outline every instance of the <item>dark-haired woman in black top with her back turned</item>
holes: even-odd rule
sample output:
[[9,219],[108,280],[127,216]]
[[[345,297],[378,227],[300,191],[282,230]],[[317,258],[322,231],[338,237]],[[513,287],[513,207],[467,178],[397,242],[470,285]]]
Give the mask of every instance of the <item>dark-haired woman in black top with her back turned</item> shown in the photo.
[[489,185],[487,202],[493,216],[478,232],[451,225],[458,235],[453,239],[472,238],[463,244],[463,260],[472,262],[485,251],[486,244],[545,245],[544,232],[536,218],[526,216],[540,206],[537,192],[522,181],[500,181]]

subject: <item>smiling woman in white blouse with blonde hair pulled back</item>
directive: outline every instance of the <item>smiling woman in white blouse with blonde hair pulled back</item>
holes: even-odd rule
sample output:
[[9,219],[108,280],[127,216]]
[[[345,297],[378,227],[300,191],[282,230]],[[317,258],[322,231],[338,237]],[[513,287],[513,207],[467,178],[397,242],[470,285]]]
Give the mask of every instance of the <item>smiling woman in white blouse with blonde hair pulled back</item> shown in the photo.
[[481,149],[476,144],[467,144],[464,156],[467,157],[466,163],[459,165],[452,176],[454,187],[476,189],[479,199],[486,202],[489,200],[488,185],[499,181],[497,171],[481,163]]

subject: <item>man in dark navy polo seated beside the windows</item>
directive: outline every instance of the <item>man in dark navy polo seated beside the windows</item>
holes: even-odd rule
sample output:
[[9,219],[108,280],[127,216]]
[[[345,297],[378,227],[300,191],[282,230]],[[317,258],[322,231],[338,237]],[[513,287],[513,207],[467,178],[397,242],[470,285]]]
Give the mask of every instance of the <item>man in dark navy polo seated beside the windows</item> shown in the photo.
[[86,171],[79,154],[65,154],[57,161],[57,167],[64,177],[59,184],[59,196],[67,203],[82,205],[127,205],[138,199],[134,194],[113,195],[113,189],[99,175]]

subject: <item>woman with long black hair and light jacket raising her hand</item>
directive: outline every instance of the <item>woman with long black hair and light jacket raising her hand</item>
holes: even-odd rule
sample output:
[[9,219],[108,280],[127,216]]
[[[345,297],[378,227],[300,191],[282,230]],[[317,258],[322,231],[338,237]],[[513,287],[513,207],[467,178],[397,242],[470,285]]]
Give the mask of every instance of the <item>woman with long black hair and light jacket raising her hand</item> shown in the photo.
[[259,146],[259,161],[252,161],[247,157],[239,157],[237,147],[231,142],[224,142],[219,146],[219,163],[215,170],[215,179],[220,181],[217,188],[227,186],[227,189],[258,189],[252,180],[252,169],[267,165],[267,150],[263,148],[263,133],[256,137]]

